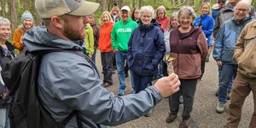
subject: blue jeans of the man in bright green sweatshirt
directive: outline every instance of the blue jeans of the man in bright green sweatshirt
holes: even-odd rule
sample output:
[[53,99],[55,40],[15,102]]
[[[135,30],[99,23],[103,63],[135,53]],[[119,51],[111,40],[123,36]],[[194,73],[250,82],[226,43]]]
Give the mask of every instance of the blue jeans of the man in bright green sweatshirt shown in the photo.
[[[115,53],[116,59],[116,67],[118,71],[118,78],[119,78],[119,89],[125,90],[125,60],[127,59],[127,53],[117,50]],[[131,70],[130,70],[131,73]],[[131,85],[133,87],[133,76],[131,73]]]

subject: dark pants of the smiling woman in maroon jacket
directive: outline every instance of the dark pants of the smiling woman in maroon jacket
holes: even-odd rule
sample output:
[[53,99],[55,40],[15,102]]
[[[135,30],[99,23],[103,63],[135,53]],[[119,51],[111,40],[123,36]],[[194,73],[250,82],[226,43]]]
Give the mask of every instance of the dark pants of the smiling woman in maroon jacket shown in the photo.
[[[189,119],[193,108],[197,79],[179,79],[183,87],[183,119]],[[179,108],[180,91],[169,96],[171,114],[177,114]]]

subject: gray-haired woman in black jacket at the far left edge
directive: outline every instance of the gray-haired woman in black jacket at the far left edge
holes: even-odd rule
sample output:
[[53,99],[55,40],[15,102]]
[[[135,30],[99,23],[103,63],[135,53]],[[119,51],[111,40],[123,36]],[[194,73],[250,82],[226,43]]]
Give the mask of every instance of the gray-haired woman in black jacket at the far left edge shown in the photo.
[[[10,21],[0,17],[0,71],[5,64],[15,58],[15,46],[9,43],[11,36]],[[10,104],[9,91],[4,86],[2,76],[0,75],[0,127],[9,128],[8,107]]]

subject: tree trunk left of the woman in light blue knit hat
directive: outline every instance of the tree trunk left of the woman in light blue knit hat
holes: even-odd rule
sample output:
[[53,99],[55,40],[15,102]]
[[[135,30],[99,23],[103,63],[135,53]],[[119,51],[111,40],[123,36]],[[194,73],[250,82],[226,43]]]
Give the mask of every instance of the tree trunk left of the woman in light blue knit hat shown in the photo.
[[11,28],[12,32],[18,27],[18,20],[17,20],[17,8],[15,0],[9,0],[9,10],[10,10],[10,20],[11,20]]

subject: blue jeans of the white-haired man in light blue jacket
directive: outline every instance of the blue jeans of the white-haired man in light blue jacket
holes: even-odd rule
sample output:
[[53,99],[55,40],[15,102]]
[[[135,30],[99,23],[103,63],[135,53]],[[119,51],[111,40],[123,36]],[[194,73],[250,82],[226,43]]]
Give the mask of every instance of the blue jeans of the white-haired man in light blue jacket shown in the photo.
[[237,65],[223,64],[218,67],[218,102],[227,102],[227,93],[236,78]]

